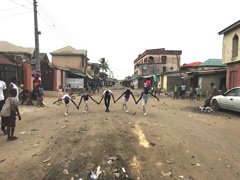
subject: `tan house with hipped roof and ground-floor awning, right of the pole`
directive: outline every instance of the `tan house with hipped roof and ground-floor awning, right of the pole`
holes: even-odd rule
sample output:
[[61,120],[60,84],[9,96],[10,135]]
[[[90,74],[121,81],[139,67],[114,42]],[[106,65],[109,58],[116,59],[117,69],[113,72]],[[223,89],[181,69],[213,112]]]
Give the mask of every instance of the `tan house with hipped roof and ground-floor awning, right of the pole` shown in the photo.
[[[67,46],[50,53],[54,67],[53,89],[59,85],[70,84],[72,88],[86,87],[87,79],[87,50],[77,50]],[[90,77],[92,78],[92,77]]]

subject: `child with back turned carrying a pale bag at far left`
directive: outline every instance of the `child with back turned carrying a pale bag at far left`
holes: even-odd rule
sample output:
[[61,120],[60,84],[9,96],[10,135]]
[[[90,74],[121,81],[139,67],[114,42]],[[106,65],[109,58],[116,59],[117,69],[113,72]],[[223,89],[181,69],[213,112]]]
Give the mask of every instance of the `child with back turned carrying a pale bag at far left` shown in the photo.
[[2,108],[1,116],[5,117],[5,125],[7,126],[7,141],[14,141],[17,139],[14,136],[14,130],[16,126],[16,113],[18,115],[18,120],[21,120],[21,116],[18,110],[18,100],[15,98],[17,95],[17,90],[12,88],[9,91],[9,97]]

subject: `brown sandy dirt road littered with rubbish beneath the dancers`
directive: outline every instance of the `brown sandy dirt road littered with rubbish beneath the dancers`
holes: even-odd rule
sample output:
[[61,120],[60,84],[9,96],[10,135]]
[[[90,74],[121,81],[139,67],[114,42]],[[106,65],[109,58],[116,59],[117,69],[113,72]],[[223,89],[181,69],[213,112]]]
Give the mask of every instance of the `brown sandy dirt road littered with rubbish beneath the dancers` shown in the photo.
[[[110,89],[115,97],[124,91]],[[140,92],[133,90],[137,98]],[[100,97],[93,94],[97,101]],[[87,114],[82,104],[80,110],[71,104],[65,116],[64,104],[53,105],[54,100],[45,98],[45,108],[20,106],[18,140],[8,142],[1,133],[1,180],[86,180],[98,166],[99,179],[107,180],[240,179],[238,113],[204,113],[198,109],[203,100],[161,94],[159,102],[149,99],[147,116],[141,101],[135,105],[133,99],[129,113],[121,109],[120,99],[111,102],[108,113],[103,102],[89,101]],[[108,162],[110,157],[117,160]]]

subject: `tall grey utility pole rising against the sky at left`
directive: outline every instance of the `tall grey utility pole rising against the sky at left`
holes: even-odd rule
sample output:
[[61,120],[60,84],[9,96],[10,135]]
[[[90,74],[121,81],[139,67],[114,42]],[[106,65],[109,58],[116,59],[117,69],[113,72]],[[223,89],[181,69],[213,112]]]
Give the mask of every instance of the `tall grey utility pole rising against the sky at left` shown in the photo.
[[33,0],[33,13],[34,13],[34,32],[35,32],[35,59],[36,59],[36,69],[40,69],[40,59],[39,59],[39,38],[38,38],[38,21],[37,21],[37,1]]

